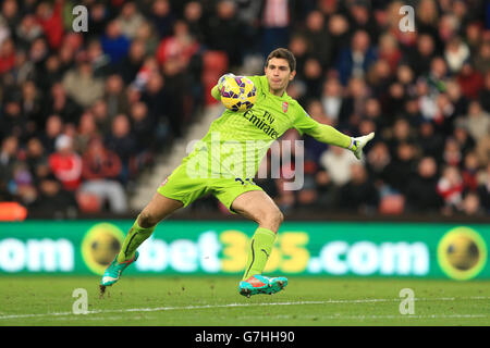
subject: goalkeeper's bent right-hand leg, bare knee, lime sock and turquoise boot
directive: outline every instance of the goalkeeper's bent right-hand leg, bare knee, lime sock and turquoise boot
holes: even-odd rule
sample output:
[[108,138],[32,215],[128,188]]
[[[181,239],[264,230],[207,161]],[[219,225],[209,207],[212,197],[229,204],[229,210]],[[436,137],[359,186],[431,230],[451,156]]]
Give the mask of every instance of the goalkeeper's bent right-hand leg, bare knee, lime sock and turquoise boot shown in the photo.
[[240,294],[249,297],[255,294],[274,294],[287,285],[285,277],[267,277],[261,275],[266,268],[275,235],[284,216],[274,201],[262,190],[252,190],[236,197],[231,204],[236,213],[258,224],[252,237],[247,263]]

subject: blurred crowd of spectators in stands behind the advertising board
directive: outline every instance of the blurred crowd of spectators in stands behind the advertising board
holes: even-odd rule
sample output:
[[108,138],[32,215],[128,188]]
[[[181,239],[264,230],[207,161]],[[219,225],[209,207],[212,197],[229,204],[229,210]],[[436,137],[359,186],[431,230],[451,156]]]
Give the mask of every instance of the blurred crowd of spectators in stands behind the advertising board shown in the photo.
[[[403,4],[414,32],[400,29]],[[488,214],[489,13],[479,0],[3,0],[0,201],[127,212],[142,170],[213,102],[223,70],[260,74],[254,58],[287,47],[287,94],[320,123],[377,136],[358,162],[284,134],[305,141],[303,189],[256,179],[281,210]]]

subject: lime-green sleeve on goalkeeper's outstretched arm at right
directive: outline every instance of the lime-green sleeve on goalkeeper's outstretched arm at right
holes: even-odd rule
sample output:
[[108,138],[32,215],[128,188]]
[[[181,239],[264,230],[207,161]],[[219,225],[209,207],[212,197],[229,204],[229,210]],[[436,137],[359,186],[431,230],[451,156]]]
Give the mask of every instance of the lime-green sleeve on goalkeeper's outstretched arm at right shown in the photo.
[[336,130],[332,126],[315,121],[299,104],[296,104],[296,107],[297,111],[293,127],[296,128],[299,135],[307,134],[318,141],[339,146],[344,149],[350,147],[350,136]]

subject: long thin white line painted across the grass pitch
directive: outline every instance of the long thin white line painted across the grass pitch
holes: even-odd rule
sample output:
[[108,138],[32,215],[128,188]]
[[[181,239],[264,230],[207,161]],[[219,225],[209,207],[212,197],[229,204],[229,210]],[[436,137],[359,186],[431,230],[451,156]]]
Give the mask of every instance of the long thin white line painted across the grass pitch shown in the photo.
[[[455,300],[487,300],[490,297],[439,297],[439,298],[414,298],[416,301],[455,301]],[[103,313],[128,313],[128,312],[159,312],[172,310],[200,310],[200,309],[216,309],[216,308],[233,308],[233,307],[260,307],[260,306],[303,306],[303,304],[336,304],[336,303],[372,303],[372,302],[399,302],[399,298],[373,298],[373,299],[352,299],[352,300],[326,300],[326,301],[296,301],[296,302],[269,302],[269,303],[228,303],[228,304],[203,304],[203,306],[183,306],[183,307],[155,307],[155,308],[126,308],[112,310],[94,310],[87,311],[84,314],[74,314],[73,312],[51,312],[41,314],[10,314],[0,315],[0,320],[7,319],[28,319],[28,318],[44,318],[44,316],[81,316],[88,314],[103,314]],[[478,314],[479,315],[479,314]],[[430,315],[429,315],[430,316]]]

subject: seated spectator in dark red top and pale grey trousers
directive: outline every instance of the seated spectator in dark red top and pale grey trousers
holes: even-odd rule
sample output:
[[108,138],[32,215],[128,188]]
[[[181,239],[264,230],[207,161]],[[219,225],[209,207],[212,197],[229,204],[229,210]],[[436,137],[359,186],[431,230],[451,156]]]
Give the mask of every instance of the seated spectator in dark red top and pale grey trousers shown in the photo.
[[81,191],[96,195],[101,201],[107,200],[110,210],[114,213],[126,212],[127,202],[124,188],[117,181],[121,169],[121,160],[118,154],[106,149],[100,138],[93,138],[83,154],[84,183]]

